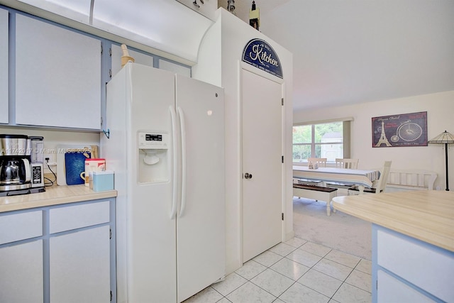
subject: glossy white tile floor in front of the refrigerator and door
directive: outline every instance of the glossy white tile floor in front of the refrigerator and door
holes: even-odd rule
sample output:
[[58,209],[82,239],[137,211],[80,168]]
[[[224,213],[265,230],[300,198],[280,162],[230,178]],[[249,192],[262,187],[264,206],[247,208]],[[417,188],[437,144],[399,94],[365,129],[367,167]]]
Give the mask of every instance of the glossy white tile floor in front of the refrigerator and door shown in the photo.
[[371,272],[370,260],[293,238],[184,303],[370,303]]

